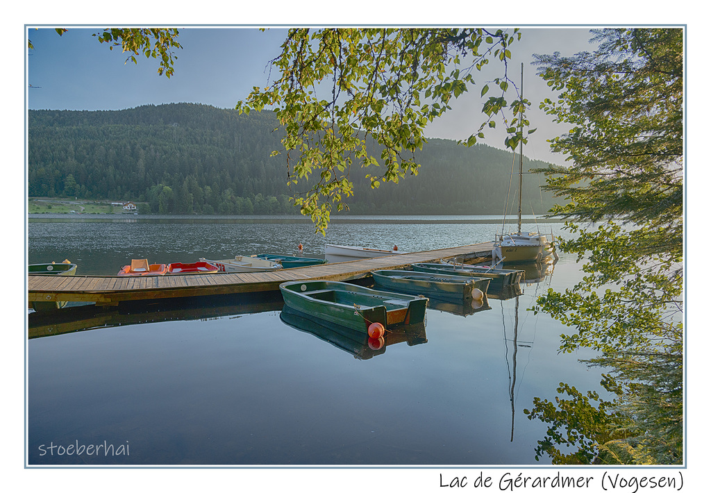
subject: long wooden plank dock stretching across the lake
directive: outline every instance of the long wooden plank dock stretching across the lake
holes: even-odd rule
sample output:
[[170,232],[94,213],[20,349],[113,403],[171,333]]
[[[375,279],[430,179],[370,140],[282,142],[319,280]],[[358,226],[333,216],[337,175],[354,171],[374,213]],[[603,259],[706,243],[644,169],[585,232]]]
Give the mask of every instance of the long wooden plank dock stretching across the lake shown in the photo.
[[137,277],[28,275],[28,302],[90,302],[97,306],[115,306],[121,302],[272,292],[278,291],[279,284],[285,281],[351,281],[368,277],[371,270],[397,269],[439,259],[488,257],[491,248],[491,242],[477,243],[271,272]]

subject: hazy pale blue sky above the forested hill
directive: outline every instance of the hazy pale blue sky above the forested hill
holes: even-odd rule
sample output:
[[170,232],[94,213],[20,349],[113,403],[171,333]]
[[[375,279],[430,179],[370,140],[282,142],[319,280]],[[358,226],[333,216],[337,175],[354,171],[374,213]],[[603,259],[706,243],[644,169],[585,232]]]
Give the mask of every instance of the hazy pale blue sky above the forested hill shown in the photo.
[[[39,26],[38,26],[39,27]],[[100,28],[69,27],[59,36],[53,26],[28,28],[34,49],[28,55],[28,107],[33,110],[122,110],[140,105],[169,102],[196,102],[233,108],[253,86],[263,87],[268,80],[267,63],[279,54],[285,28],[196,26],[182,28],[178,41],[183,49],[175,74],[169,79],[156,73],[158,61],[139,57],[138,64],[124,63],[119,48],[109,51],[92,33]],[[518,84],[520,63],[524,63],[524,92],[538,108],[550,91],[530,65],[533,53],[560,51],[572,55],[592,51],[589,28],[525,28],[523,38],[512,46],[510,75]],[[482,76],[482,81],[486,79]],[[479,85],[481,87],[481,85]],[[470,88],[465,97],[451,103],[449,115],[429,124],[427,137],[465,139],[481,124],[479,88]],[[548,152],[545,139],[565,132],[548,124],[550,118],[535,111],[529,118],[538,127],[536,139],[525,154],[534,159],[560,162]],[[502,134],[491,134],[483,141],[503,147]]]

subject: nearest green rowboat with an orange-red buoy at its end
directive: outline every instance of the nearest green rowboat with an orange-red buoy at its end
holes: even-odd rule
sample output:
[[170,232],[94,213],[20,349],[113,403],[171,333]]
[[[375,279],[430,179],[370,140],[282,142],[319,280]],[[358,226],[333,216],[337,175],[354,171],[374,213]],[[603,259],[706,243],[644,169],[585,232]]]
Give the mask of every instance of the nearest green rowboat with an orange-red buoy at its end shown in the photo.
[[[284,303],[299,312],[374,334],[396,324],[424,323],[427,298],[336,281],[282,282]],[[379,336],[376,336],[376,339]]]

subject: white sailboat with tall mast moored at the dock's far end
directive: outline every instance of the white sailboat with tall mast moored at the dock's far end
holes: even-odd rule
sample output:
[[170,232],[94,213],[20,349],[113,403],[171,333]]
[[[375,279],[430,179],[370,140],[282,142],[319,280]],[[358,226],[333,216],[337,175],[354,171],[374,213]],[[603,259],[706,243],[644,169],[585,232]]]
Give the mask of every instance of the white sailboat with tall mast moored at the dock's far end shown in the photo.
[[[521,63],[521,95],[523,97],[523,63]],[[514,151],[515,157],[515,151]],[[521,191],[523,189],[523,142],[518,153],[518,231],[497,235],[491,258],[493,262],[524,263],[540,262],[554,253],[552,243],[546,235],[535,231],[521,230]],[[503,231],[503,229],[502,229]],[[551,238],[552,239],[552,238]]]

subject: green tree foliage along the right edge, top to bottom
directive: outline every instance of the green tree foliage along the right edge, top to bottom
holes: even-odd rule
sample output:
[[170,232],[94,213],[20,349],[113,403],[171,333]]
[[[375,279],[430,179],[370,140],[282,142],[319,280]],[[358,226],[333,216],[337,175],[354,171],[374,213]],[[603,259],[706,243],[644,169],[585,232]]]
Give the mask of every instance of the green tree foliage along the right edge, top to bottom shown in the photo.
[[[592,347],[589,364],[611,369],[619,396],[606,408],[624,415],[612,430],[616,455],[634,463],[678,463],[683,440],[683,33],[680,29],[605,29],[595,53],[538,56],[541,75],[560,96],[542,104],[573,125],[552,140],[568,167],[539,171],[544,187],[564,197],[552,213],[574,234],[560,243],[585,259],[583,280],[549,290],[535,311],[574,327],[562,351]],[[539,402],[531,417],[552,412]],[[547,413],[543,410],[547,409]],[[568,424],[575,425],[573,417]],[[560,420],[559,420],[560,421]],[[577,429],[577,428],[576,428]],[[582,427],[582,450],[606,437]],[[595,445],[590,445],[592,440]],[[560,458],[550,440],[541,450]],[[602,453],[602,452],[601,452]],[[588,456],[585,459],[589,459]]]

